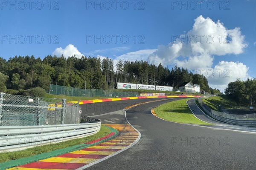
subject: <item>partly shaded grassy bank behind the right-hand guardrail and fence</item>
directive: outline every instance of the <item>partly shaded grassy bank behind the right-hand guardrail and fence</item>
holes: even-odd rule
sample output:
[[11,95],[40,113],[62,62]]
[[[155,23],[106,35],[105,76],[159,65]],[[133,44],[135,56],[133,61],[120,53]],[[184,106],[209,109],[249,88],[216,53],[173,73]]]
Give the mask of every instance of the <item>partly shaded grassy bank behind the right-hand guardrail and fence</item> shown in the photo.
[[240,104],[236,103],[236,101],[225,95],[204,98],[203,101],[205,104],[207,104],[207,106],[211,107],[211,109],[216,111],[218,111],[219,104],[221,104],[222,109],[239,109],[239,107],[243,107],[240,106]]

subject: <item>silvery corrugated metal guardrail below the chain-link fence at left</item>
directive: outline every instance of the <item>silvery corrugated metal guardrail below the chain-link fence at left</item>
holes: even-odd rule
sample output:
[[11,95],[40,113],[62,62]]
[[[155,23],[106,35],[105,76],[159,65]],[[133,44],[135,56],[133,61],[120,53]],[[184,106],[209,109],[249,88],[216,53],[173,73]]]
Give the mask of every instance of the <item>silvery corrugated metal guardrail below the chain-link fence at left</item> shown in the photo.
[[24,150],[99,132],[101,121],[83,124],[0,127],[0,152]]

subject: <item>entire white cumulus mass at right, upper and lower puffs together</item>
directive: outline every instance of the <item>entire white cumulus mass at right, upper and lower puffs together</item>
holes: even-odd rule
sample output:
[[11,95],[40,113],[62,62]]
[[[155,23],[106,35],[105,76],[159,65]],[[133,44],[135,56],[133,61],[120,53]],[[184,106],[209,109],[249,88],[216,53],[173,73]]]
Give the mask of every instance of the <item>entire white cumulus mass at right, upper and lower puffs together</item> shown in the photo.
[[222,91],[229,82],[248,77],[249,68],[243,63],[220,61],[213,66],[214,58],[218,56],[239,55],[244,52],[248,44],[239,27],[227,29],[219,20],[215,23],[209,17],[200,15],[185,35],[173,37],[175,40],[172,43],[158,46],[148,56],[148,61],[194,69],[197,73],[204,74],[212,87]]

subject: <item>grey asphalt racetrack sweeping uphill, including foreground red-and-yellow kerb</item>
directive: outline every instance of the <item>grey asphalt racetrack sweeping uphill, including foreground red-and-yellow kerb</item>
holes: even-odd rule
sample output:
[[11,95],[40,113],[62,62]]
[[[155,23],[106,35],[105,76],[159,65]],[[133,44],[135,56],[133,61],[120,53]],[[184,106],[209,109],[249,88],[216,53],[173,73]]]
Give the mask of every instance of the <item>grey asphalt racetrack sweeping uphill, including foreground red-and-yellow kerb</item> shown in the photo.
[[[183,104],[165,106],[183,99],[188,104],[185,109]],[[175,96],[86,101],[80,105],[81,114],[100,119],[117,135],[10,169],[256,169],[255,128],[215,121],[197,108],[195,100]],[[167,120],[161,113],[157,115],[159,111],[162,115],[166,111],[181,112],[186,120],[193,118],[193,124]],[[201,124],[195,124],[195,119]]]

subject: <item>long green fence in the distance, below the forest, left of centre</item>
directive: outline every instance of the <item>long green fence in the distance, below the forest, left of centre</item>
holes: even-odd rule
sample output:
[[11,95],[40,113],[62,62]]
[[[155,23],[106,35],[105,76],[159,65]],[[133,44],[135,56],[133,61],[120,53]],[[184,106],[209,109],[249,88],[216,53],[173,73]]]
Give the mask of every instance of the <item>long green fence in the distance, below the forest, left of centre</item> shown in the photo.
[[121,92],[116,90],[101,90],[101,89],[79,89],[75,87],[59,86],[51,84],[49,94],[52,95],[67,95],[67,96],[83,96],[83,97],[134,97],[137,92]]

